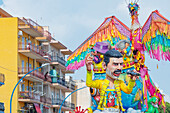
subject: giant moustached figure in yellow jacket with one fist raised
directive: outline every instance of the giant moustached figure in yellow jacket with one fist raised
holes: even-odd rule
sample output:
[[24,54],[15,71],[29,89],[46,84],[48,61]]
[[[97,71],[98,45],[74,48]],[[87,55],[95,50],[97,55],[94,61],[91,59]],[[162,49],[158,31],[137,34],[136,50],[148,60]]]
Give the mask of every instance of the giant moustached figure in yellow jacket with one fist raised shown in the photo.
[[[93,57],[91,57],[90,54],[87,54],[85,62],[87,67],[86,85],[88,87],[97,88],[100,91],[100,101],[94,113],[98,111],[106,111],[108,113],[125,111],[121,102],[121,90],[130,94],[135,85],[135,80],[138,77],[129,75],[130,80],[128,86],[126,86],[123,81],[118,80],[123,68],[123,56],[121,53],[116,50],[109,50],[104,54],[106,67],[106,79],[104,80],[92,80],[91,64],[93,62]],[[114,101],[110,98],[110,94],[114,97]]]

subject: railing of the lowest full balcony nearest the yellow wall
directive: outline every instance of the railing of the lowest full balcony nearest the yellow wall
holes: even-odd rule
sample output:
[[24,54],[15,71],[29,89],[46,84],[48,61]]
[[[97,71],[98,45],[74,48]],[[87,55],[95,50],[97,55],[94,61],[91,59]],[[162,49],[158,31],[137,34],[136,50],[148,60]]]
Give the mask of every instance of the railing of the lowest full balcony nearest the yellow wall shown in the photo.
[[31,99],[40,102],[40,94],[30,91],[20,91],[19,99]]

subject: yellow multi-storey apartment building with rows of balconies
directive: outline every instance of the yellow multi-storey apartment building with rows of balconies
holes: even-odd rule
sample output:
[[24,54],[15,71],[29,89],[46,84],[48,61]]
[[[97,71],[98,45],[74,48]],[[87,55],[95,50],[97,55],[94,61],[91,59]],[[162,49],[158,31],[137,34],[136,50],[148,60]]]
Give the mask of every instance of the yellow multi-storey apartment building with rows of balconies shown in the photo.
[[[0,8],[0,66],[6,83],[0,89],[0,100],[5,112],[10,111],[10,97],[21,77],[29,73],[18,85],[12,101],[13,113],[58,113],[66,92],[75,90],[73,82],[65,80],[65,56],[70,55],[61,42],[52,38],[49,28],[27,18],[12,17]],[[72,87],[71,87],[72,86]],[[71,111],[75,104],[65,101],[61,112]]]

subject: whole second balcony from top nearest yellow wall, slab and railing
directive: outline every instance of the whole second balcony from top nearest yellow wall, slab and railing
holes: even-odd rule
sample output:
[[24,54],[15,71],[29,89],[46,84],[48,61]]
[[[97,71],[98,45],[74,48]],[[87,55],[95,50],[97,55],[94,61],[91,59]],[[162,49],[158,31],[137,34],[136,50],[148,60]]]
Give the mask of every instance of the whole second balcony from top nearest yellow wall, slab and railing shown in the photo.
[[41,63],[49,63],[51,61],[49,54],[45,53],[40,46],[33,44],[19,43],[18,52],[32,59],[37,59]]

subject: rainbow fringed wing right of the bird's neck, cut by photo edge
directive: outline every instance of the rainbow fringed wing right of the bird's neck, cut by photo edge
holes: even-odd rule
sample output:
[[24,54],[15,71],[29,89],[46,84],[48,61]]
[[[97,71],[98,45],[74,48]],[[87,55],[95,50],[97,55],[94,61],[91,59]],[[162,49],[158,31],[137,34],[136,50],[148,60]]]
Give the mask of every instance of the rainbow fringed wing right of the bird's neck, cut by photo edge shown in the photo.
[[157,10],[142,27],[142,42],[151,58],[170,61],[170,21]]

